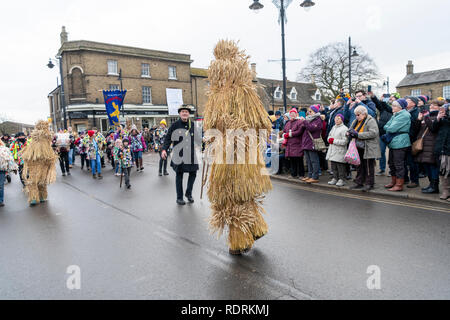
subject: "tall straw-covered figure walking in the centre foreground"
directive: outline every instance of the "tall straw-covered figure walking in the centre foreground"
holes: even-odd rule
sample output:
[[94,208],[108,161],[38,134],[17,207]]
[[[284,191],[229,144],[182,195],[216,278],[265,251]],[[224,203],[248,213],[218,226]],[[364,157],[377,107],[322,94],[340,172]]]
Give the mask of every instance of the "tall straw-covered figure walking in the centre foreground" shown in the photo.
[[[210,228],[219,236],[228,228],[229,252],[240,255],[248,252],[254,242],[268,232],[262,217],[262,198],[272,189],[272,184],[265,174],[262,148],[267,145],[272,124],[253,84],[249,57],[234,41],[224,40],[217,44],[214,55],[216,60],[209,67],[211,87],[205,110],[207,154],[212,156],[208,189],[212,208]],[[211,129],[218,130],[222,138],[211,139],[208,133]],[[244,138],[235,144],[234,137],[226,137],[227,130],[233,129],[255,130],[255,134],[253,139]],[[266,133],[260,135],[260,130]],[[211,152],[214,144],[215,150]],[[245,153],[244,164],[236,162],[239,147]],[[218,148],[223,152],[217,152]],[[256,148],[253,149],[254,160],[251,160],[252,148]],[[233,151],[233,164],[226,159],[230,157],[228,150]]]

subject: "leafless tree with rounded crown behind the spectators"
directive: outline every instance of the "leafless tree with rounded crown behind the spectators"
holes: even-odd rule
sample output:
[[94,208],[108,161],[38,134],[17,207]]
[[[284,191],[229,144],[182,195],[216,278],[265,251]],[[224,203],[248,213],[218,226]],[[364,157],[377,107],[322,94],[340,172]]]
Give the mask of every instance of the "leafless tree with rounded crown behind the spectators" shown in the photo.
[[[379,80],[378,67],[361,47],[357,57],[352,57],[352,92]],[[309,57],[307,67],[298,74],[298,80],[313,81],[322,92],[324,100],[337,97],[340,89],[348,92],[349,59],[348,45],[331,43]]]

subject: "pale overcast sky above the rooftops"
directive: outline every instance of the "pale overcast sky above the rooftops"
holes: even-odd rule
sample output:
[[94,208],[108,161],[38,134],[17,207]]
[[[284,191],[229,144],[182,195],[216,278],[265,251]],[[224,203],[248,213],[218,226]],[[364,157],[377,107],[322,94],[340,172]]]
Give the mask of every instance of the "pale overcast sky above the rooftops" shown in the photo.
[[[294,0],[287,10],[286,56],[295,80],[308,56],[330,42],[362,46],[391,79],[391,91],[413,60],[415,72],[450,67],[448,0],[314,0],[309,12]],[[219,39],[240,41],[259,77],[281,79],[278,11],[271,0],[41,0],[2,3],[0,115],[35,123],[49,116],[47,94],[58,68],[46,67],[60,47],[61,26],[70,40],[91,40],[191,54],[207,68]]]

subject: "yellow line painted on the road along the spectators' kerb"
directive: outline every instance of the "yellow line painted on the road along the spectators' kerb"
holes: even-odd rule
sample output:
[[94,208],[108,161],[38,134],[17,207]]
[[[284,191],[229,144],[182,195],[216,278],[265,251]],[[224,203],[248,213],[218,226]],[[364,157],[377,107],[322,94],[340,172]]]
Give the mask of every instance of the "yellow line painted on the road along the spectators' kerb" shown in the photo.
[[[298,185],[298,184],[295,184],[295,183],[292,183],[292,182],[289,182],[289,181],[283,181],[283,180],[276,180],[276,181],[281,183],[281,184],[286,184],[286,185],[292,186],[292,187],[294,187],[296,189],[306,190],[306,191],[310,191],[310,192],[316,192],[316,193],[322,193],[322,194],[328,194],[328,195],[334,195],[334,196],[338,196],[338,197],[358,199],[358,200],[367,200],[367,201],[371,201],[371,202],[391,204],[391,205],[410,207],[410,208],[416,208],[416,209],[424,209],[424,210],[430,210],[430,211],[438,211],[438,212],[450,213],[450,208],[447,209],[447,208],[429,206],[429,205],[425,205],[425,204],[408,203],[408,202],[399,201],[399,200],[379,199],[379,198],[374,198],[374,197],[370,197],[370,196],[349,194],[349,193],[346,193],[346,192],[321,190],[321,189],[318,189],[318,188]],[[417,200],[417,201],[420,201],[420,200]]]

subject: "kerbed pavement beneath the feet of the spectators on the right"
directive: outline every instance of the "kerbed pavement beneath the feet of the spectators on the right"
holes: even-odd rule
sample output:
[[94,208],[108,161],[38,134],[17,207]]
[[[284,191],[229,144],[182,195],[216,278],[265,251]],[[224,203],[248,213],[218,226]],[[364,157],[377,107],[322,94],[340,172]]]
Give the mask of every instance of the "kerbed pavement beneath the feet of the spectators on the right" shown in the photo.
[[[356,177],[356,172],[352,172],[353,179]],[[422,188],[429,185],[428,178],[420,179],[420,187],[409,189],[404,186],[404,190],[402,192],[390,192],[386,188],[385,185],[391,182],[391,178],[387,175],[376,176],[375,177],[375,189],[369,192],[363,192],[362,190],[350,190],[350,187],[354,185],[353,180],[346,181],[346,185],[344,187],[336,187],[330,186],[328,181],[332,179],[332,176],[328,172],[323,172],[322,176],[320,176],[320,182],[317,184],[306,184],[305,182],[300,181],[300,179],[294,179],[289,174],[281,174],[281,175],[272,175],[272,179],[285,181],[290,183],[298,183],[301,185],[308,185],[312,188],[320,188],[326,189],[334,192],[343,192],[343,193],[354,193],[354,194],[370,194],[372,196],[383,197],[383,198],[397,198],[397,199],[413,199],[420,200],[426,203],[438,203],[438,204],[448,204],[450,207],[450,202],[439,199],[440,194],[424,194],[422,193]]]

